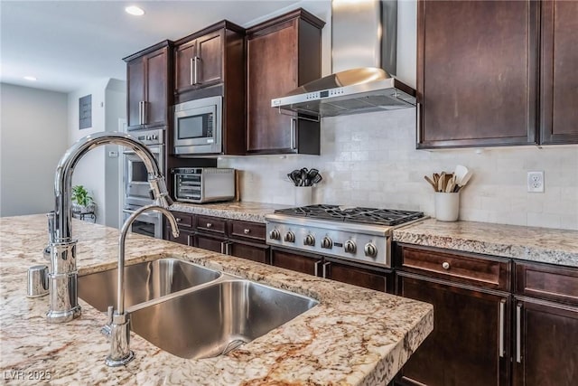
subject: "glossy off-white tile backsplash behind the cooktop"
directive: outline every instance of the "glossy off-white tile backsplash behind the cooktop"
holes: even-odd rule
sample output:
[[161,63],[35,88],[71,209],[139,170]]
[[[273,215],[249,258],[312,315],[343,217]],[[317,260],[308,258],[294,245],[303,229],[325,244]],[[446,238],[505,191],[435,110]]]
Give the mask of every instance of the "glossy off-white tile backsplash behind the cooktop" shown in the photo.
[[[286,174],[320,170],[313,201],[423,211],[434,217],[424,175],[465,165],[460,220],[578,230],[578,146],[416,150],[415,108],[322,120],[322,155],[224,157],[240,172],[241,199],[293,205]],[[545,193],[527,193],[527,172],[544,171]]]

